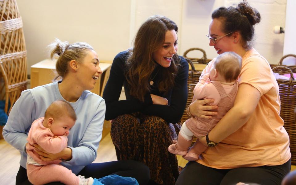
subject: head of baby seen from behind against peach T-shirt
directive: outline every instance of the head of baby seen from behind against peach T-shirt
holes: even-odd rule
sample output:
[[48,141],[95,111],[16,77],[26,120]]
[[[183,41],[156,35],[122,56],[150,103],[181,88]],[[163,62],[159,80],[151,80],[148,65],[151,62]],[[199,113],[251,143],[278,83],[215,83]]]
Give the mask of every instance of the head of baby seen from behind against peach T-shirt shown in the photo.
[[241,73],[241,56],[235,52],[218,55],[210,71],[210,80],[233,82]]

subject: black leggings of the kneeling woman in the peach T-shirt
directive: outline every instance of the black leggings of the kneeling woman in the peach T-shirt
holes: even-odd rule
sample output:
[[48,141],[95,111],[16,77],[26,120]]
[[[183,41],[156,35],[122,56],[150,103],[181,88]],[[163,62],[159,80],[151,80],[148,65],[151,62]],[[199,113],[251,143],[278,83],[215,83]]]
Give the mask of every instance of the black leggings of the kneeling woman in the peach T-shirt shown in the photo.
[[291,159],[278,166],[241,167],[225,170],[206,167],[191,161],[182,170],[176,185],[235,185],[239,182],[280,185],[290,170]]

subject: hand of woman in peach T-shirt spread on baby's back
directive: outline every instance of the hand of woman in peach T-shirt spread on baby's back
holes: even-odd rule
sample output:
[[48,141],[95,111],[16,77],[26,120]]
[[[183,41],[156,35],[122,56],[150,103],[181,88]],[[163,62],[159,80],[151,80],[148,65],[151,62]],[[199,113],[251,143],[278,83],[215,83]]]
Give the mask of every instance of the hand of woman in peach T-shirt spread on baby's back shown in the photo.
[[217,105],[205,105],[211,102],[214,102],[214,99],[195,100],[189,107],[191,115],[206,119],[212,118],[212,115],[217,115],[217,112],[208,111],[217,109]]

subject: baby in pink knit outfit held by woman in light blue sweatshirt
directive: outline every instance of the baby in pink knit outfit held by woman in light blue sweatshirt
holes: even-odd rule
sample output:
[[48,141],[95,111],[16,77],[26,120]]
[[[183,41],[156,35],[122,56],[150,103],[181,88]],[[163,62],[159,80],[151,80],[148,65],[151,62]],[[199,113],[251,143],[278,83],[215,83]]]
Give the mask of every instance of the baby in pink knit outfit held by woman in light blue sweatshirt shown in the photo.
[[35,120],[28,134],[27,175],[32,184],[61,182],[73,185],[92,185],[93,179],[76,176],[60,165],[61,159],[43,161],[35,152],[38,144],[48,153],[56,154],[67,147],[69,131],[74,126],[76,114],[66,101],[54,101],[45,111],[45,116]]

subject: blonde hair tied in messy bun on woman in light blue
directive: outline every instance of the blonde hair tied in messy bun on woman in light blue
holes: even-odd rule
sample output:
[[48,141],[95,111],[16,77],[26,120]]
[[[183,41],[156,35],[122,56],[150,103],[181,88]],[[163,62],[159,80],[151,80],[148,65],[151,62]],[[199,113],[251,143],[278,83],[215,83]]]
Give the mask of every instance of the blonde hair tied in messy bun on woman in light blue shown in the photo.
[[81,63],[86,56],[87,51],[93,50],[93,48],[84,42],[69,44],[67,41],[61,42],[59,39],[55,39],[50,47],[50,58],[53,59],[55,55],[58,55],[58,59],[55,64],[57,76],[54,80],[59,77],[64,78],[68,72],[68,63],[71,60],[76,60]]

